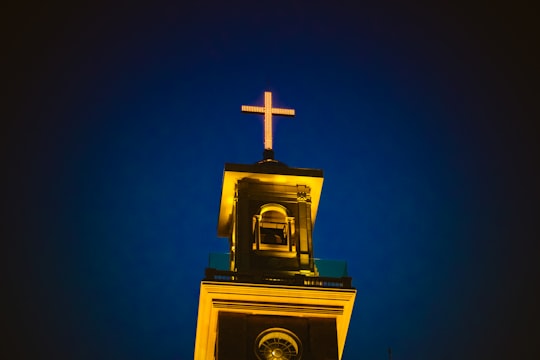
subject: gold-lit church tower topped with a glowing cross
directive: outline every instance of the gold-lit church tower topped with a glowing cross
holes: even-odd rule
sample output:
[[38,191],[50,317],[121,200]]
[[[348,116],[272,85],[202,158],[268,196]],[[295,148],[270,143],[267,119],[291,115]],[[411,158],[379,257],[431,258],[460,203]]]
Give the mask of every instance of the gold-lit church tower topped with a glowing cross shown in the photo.
[[242,111],[264,114],[263,160],[225,164],[218,236],[230,252],[211,255],[201,283],[195,360],[341,359],[356,290],[344,262],[314,257],[323,172],[274,159],[272,115],[294,110],[265,92]]

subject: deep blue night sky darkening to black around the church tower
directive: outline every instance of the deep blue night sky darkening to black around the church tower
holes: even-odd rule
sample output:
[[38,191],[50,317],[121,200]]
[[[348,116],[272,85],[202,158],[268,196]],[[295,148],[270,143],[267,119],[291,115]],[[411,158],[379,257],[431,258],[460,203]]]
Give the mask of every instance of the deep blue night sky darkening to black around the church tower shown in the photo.
[[45,3],[2,10],[0,357],[193,358],[270,90],[276,158],[324,170],[315,256],[358,291],[345,360],[540,358],[532,8]]

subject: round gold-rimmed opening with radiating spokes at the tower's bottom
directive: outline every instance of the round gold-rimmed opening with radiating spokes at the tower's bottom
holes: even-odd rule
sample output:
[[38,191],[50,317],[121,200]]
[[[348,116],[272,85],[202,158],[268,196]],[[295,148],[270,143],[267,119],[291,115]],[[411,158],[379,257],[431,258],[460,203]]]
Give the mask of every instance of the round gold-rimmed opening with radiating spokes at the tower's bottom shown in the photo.
[[257,336],[255,354],[259,360],[300,360],[302,344],[293,332],[271,328]]

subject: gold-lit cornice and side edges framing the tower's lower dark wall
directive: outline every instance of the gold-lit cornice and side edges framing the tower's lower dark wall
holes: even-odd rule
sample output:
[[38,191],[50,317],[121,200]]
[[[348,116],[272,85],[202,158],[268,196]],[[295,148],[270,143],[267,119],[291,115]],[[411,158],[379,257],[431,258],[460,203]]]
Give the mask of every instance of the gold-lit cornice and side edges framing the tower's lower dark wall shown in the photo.
[[341,359],[355,297],[355,289],[203,281],[195,360],[213,359],[220,312],[335,319]]

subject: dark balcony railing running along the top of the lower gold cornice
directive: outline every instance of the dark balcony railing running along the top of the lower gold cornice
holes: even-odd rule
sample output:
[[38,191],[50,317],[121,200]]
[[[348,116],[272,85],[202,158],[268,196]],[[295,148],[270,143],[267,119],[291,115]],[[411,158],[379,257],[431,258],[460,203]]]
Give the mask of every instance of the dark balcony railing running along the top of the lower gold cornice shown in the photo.
[[290,286],[313,286],[352,289],[350,277],[323,277],[306,276],[302,274],[283,275],[275,273],[239,273],[236,271],[218,270],[206,268],[205,280],[207,281],[229,281],[245,282],[253,284],[273,284]]

